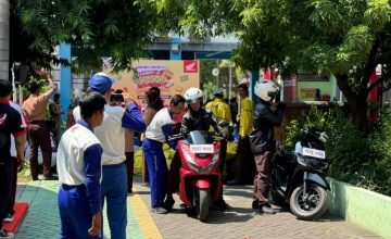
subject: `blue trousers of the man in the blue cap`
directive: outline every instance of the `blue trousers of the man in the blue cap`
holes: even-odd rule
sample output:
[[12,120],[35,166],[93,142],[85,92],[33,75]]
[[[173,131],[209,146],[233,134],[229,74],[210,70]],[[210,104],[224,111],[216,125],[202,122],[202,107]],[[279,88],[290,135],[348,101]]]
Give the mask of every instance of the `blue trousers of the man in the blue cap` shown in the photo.
[[[127,225],[127,173],[125,163],[102,166],[102,209],[106,200],[111,238],[126,239]],[[102,231],[103,236],[103,216]]]

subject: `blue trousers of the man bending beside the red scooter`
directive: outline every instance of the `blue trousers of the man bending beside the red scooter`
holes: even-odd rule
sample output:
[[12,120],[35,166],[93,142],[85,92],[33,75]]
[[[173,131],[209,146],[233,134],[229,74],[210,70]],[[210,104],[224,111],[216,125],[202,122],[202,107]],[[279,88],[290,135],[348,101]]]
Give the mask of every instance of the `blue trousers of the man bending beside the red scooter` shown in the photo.
[[142,151],[148,164],[151,205],[152,207],[163,207],[168,174],[166,159],[163,153],[163,143],[146,139],[142,143]]

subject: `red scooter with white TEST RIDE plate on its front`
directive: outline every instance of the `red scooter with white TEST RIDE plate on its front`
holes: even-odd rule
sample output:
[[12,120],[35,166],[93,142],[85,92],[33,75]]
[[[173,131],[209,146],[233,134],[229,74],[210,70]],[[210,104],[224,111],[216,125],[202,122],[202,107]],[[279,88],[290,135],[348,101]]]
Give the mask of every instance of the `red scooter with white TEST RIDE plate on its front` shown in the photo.
[[197,217],[205,222],[210,205],[218,199],[223,184],[218,141],[222,138],[212,136],[210,131],[193,130],[186,139],[181,135],[171,137],[173,139],[179,139],[179,198],[188,207],[195,207]]

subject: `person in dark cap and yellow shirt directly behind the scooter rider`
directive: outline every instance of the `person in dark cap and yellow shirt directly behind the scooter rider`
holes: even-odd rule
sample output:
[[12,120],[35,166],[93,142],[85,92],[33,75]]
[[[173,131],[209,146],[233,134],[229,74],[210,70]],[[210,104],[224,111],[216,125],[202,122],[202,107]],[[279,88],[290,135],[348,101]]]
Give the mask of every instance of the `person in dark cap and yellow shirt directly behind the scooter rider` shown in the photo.
[[[210,109],[212,113],[216,116],[218,122],[228,122],[232,123],[230,108],[227,103],[224,102],[224,92],[223,89],[216,89],[213,92],[215,99],[209,102],[205,105],[205,109]],[[228,131],[228,126],[224,127],[224,130]],[[210,131],[214,131],[214,128],[211,126]],[[227,140],[220,140],[220,172],[223,174],[224,164],[227,155]],[[223,190],[222,190],[223,191]]]

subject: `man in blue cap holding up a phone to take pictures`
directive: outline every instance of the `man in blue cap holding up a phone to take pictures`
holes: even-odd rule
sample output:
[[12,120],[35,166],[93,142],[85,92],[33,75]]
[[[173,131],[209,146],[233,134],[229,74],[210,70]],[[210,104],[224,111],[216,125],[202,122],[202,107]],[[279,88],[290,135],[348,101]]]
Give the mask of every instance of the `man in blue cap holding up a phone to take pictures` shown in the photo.
[[[90,91],[97,91],[104,96],[110,102],[112,85],[115,79],[104,73],[92,75],[88,85]],[[111,238],[126,238],[126,202],[127,202],[127,173],[125,165],[125,129],[143,133],[147,129],[142,120],[141,111],[134,102],[128,92],[123,92],[125,109],[118,105],[104,105],[104,117],[102,125],[93,131],[102,144],[102,207],[106,199],[108,221]],[[80,118],[79,106],[74,109],[76,121]],[[103,224],[102,224],[103,225]],[[101,235],[103,235],[103,227]]]

